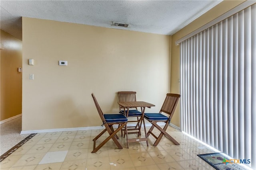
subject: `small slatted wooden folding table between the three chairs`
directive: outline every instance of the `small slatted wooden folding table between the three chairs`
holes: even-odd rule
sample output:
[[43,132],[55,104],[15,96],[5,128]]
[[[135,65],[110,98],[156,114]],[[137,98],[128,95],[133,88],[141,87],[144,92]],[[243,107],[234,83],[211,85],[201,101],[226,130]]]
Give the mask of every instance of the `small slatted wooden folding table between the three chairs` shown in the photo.
[[126,113],[125,109],[127,109],[126,117],[128,117],[128,115],[129,115],[129,108],[140,107],[141,111],[142,111],[142,117],[140,118],[140,122],[139,122],[140,125],[139,125],[139,128],[138,128],[138,134],[140,134],[140,129],[141,129],[141,126],[142,126],[142,121],[143,121],[144,131],[145,131],[146,137],[136,138],[136,139],[128,139],[128,136],[126,135],[127,147],[129,148],[128,143],[139,142],[139,141],[146,141],[147,146],[148,146],[148,137],[147,137],[146,126],[145,126],[145,121],[144,121],[144,112],[145,112],[146,107],[151,108],[152,106],[155,106],[155,105],[147,103],[147,102],[137,102],[137,101],[136,102],[118,102],[118,104],[124,108],[124,113]]

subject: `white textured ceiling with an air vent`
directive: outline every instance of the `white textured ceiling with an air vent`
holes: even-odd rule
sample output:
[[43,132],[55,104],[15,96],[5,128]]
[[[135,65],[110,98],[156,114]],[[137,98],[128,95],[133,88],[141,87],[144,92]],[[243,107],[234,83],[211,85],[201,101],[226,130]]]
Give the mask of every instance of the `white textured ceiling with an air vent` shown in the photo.
[[[22,39],[21,17],[172,35],[221,0],[1,0],[1,29]],[[128,23],[114,27],[112,21]]]

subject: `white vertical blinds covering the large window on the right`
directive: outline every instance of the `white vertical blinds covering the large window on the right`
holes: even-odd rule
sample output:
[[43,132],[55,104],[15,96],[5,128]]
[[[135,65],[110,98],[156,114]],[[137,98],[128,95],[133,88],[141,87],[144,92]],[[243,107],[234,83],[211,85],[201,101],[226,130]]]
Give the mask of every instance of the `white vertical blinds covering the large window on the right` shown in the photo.
[[256,4],[180,43],[182,131],[256,169]]

